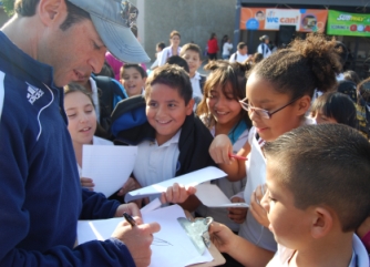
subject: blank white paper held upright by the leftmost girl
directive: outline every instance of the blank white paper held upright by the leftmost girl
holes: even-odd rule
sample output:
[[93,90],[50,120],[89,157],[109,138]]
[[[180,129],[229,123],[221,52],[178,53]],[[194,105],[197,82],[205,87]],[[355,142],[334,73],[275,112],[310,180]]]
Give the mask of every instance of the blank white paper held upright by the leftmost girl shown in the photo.
[[83,145],[82,177],[92,178],[94,191],[106,197],[129,179],[137,155],[137,146]]

